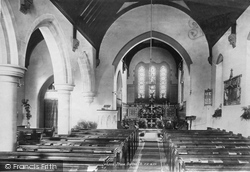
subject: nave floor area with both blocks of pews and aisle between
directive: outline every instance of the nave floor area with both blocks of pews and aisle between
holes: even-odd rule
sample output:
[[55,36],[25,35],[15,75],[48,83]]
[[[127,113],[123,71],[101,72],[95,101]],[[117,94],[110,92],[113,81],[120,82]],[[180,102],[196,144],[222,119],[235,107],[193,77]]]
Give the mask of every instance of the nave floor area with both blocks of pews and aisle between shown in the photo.
[[1,171],[247,172],[250,138],[225,130],[18,129]]

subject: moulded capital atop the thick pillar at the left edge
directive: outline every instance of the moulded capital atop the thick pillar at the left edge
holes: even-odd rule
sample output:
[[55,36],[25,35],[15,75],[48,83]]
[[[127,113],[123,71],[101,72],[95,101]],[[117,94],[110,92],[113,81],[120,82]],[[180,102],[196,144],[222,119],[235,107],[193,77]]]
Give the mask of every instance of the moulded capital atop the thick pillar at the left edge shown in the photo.
[[11,64],[0,64],[0,76],[22,78],[24,76],[25,71],[26,68],[24,67]]

